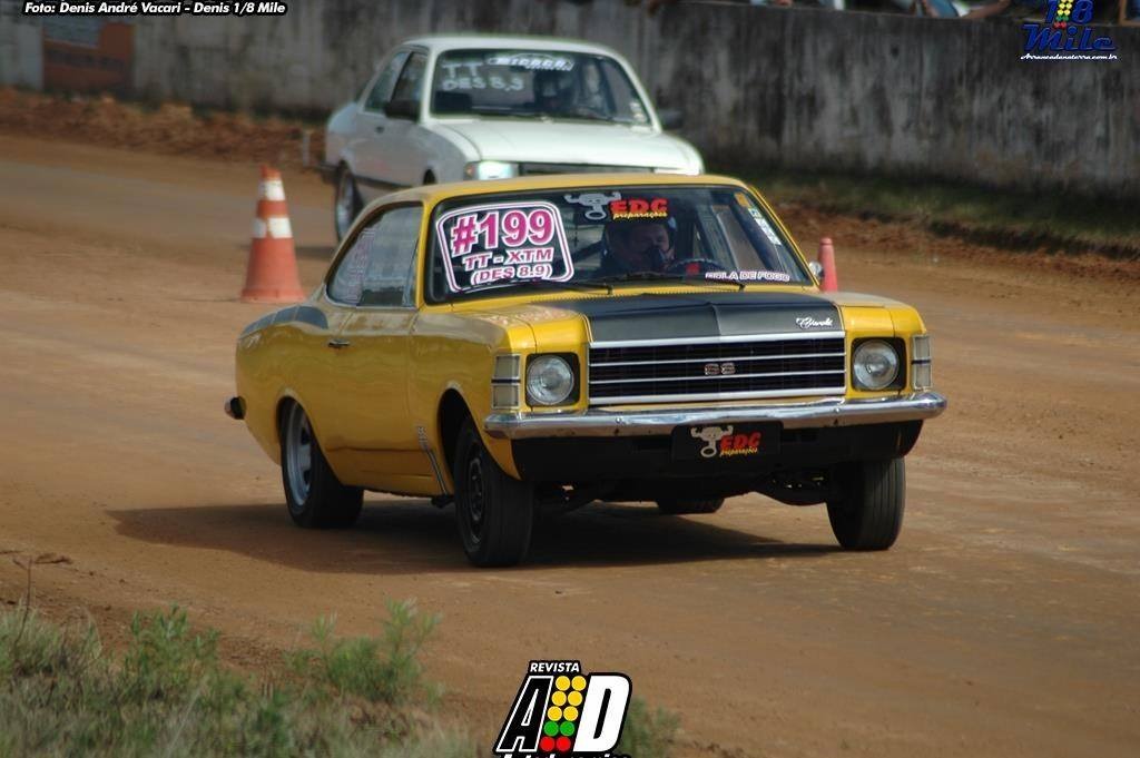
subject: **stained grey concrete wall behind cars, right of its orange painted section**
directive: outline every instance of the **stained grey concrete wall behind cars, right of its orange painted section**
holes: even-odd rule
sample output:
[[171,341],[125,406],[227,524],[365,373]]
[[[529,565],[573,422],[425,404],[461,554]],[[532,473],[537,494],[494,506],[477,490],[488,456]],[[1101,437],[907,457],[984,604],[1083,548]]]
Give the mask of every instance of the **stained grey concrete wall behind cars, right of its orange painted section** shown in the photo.
[[[144,19],[139,95],[331,108],[420,33],[499,31],[610,44],[707,161],[938,176],[1140,198],[1140,27],[1118,60],[1023,62],[1011,21],[621,0],[304,0],[283,18]],[[0,39],[2,39],[0,33]],[[0,72],[0,79],[3,73]]]

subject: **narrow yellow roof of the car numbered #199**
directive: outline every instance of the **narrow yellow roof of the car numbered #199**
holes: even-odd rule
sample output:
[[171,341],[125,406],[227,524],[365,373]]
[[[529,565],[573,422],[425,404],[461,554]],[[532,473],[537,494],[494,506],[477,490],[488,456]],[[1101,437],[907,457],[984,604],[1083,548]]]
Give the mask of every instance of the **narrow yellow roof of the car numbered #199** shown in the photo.
[[388,205],[389,203],[422,202],[434,205],[440,201],[455,197],[492,195],[543,189],[573,189],[578,187],[604,188],[628,187],[630,185],[732,185],[747,188],[740,179],[701,173],[683,176],[675,173],[564,173],[539,177],[518,177],[515,179],[490,179],[486,181],[455,181],[447,185],[424,185],[384,195],[369,204]]

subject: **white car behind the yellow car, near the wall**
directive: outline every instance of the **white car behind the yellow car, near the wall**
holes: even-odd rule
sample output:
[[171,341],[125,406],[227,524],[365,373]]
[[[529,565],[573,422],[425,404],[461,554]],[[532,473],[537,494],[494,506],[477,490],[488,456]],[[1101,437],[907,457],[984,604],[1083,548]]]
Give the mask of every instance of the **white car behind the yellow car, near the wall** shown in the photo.
[[551,173],[705,169],[609,48],[527,36],[421,36],[328,120],[325,178],[343,237],[398,187]]

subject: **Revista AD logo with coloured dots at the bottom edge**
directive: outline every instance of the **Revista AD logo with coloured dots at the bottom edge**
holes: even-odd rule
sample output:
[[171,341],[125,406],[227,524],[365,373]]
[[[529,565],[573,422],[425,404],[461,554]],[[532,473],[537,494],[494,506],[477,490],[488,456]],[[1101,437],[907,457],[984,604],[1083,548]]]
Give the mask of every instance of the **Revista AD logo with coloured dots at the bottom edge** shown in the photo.
[[611,751],[621,739],[632,692],[625,674],[586,675],[578,661],[530,661],[495,755],[620,758]]

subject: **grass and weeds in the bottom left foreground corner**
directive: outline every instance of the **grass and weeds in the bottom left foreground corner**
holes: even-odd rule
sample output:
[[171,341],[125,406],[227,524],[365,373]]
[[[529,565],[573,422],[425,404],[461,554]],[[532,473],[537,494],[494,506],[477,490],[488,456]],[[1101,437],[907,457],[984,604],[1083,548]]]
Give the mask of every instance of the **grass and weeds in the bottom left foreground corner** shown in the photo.
[[339,638],[321,620],[311,646],[250,676],[177,608],[136,614],[121,653],[90,622],[3,610],[0,756],[471,758],[471,739],[431,715],[418,653],[435,623],[410,603],[390,604],[374,637]]

